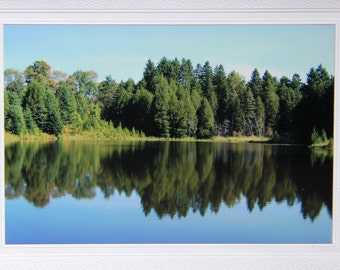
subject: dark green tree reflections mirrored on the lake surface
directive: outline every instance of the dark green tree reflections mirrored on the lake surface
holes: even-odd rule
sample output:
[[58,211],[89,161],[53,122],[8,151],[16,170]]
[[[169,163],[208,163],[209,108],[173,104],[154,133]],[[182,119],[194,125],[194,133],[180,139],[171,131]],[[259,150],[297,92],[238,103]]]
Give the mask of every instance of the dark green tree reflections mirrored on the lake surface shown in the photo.
[[202,216],[247,200],[249,212],[272,201],[301,204],[315,220],[332,215],[332,152],[297,146],[205,142],[19,142],[5,147],[7,199],[37,207],[71,194],[91,199],[115,192],[141,198],[145,215]]

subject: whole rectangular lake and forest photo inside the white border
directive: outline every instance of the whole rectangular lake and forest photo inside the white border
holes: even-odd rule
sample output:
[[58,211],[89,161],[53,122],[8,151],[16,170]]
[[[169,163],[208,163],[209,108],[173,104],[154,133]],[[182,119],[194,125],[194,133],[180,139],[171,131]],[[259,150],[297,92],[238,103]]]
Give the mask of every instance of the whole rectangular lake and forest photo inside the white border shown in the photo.
[[5,244],[331,244],[335,25],[3,26]]

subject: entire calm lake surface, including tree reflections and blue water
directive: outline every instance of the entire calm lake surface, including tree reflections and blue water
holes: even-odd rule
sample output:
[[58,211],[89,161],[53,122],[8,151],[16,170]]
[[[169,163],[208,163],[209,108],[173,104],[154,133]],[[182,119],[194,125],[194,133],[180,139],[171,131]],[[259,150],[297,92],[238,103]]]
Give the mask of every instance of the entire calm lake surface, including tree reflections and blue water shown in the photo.
[[21,142],[5,177],[7,244],[332,242],[325,150]]

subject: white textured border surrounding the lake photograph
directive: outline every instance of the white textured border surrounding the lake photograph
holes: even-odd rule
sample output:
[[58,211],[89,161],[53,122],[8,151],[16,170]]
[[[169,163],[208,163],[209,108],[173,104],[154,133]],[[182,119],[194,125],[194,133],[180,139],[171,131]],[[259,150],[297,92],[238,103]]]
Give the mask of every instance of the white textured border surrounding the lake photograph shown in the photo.
[[[0,0],[0,89],[4,24],[335,24],[339,0]],[[6,246],[3,96],[0,95],[0,269],[340,269],[339,102],[336,84],[333,244]]]

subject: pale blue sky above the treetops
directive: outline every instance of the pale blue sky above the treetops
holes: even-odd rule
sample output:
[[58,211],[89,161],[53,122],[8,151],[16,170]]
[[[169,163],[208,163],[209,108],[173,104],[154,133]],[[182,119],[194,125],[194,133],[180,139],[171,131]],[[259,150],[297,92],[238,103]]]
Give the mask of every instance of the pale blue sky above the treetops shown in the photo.
[[222,64],[246,80],[258,68],[278,78],[297,73],[304,82],[319,64],[334,75],[334,32],[332,25],[5,25],[4,68],[23,71],[43,60],[69,75],[94,70],[99,81],[138,81],[149,58],[157,64],[165,56]]

